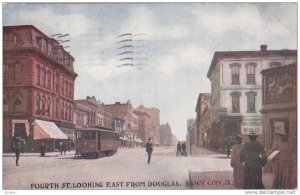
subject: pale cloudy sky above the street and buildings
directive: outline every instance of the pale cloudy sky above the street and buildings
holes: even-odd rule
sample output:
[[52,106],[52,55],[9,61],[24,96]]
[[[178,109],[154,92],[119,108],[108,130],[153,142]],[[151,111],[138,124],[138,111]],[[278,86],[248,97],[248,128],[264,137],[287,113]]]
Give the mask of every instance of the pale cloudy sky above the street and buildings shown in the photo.
[[[297,3],[8,3],[3,25],[69,34],[75,99],[160,109],[162,124],[185,140],[214,52],[297,49]],[[140,69],[120,65],[119,35],[140,35]],[[137,40],[137,39],[136,39]],[[136,57],[136,56],[135,56]]]

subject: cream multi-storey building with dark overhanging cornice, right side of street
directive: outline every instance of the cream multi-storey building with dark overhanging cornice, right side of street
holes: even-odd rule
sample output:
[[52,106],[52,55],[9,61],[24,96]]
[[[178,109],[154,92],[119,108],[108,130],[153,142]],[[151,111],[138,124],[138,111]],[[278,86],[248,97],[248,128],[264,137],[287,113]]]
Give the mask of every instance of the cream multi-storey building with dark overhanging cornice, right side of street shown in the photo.
[[[224,149],[237,134],[262,134],[264,69],[297,62],[296,50],[215,52],[207,77],[211,81],[211,144]],[[247,136],[244,136],[248,139]],[[263,135],[259,136],[263,142]]]

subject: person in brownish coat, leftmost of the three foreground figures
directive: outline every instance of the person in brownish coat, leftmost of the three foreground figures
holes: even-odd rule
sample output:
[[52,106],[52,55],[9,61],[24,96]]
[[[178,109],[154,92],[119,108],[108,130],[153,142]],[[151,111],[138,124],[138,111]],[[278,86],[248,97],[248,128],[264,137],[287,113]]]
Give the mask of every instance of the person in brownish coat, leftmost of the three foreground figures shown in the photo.
[[243,188],[244,185],[244,166],[240,161],[240,154],[243,149],[243,138],[237,136],[236,144],[232,146],[230,165],[233,168],[233,185],[236,188]]

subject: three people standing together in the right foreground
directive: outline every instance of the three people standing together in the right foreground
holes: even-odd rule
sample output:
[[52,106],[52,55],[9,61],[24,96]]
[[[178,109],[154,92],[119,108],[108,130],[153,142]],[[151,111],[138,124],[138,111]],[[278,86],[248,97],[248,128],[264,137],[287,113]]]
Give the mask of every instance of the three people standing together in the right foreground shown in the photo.
[[[232,147],[231,166],[233,167],[234,186],[242,189],[264,189],[262,169],[272,164],[274,179],[273,189],[293,189],[297,187],[297,171],[295,167],[296,151],[288,142],[288,134],[281,133],[281,143],[276,145],[268,155],[263,146],[256,140],[256,134],[249,135],[249,142],[243,144],[241,136],[237,136],[237,144]],[[268,158],[274,150],[277,156]],[[294,163],[294,164],[293,164]]]

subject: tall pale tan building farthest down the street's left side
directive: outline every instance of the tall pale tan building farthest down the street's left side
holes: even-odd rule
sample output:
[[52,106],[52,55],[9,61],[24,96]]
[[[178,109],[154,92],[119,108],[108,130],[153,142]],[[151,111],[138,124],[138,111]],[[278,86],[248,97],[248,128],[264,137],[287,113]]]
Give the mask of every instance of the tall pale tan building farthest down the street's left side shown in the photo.
[[151,123],[150,136],[155,142],[157,142],[156,144],[159,144],[158,142],[160,141],[160,132],[159,132],[160,110],[158,108],[146,108],[143,105],[140,105],[135,110],[140,112],[145,112],[150,116],[150,123]]

